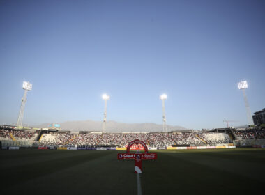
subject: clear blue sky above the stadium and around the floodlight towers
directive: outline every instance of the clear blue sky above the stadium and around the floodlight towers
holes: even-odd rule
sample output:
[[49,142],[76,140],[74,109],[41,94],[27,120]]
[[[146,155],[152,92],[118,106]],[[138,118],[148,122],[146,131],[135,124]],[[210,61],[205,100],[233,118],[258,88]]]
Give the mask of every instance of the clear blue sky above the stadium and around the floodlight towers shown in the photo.
[[107,120],[190,129],[265,107],[265,1],[0,1],[0,124]]

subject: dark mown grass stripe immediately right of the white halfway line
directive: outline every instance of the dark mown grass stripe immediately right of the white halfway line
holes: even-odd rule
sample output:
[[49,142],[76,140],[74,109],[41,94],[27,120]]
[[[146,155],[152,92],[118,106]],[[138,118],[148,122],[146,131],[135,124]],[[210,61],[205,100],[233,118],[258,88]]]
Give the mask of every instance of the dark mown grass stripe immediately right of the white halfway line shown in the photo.
[[[196,162],[199,157],[190,152],[158,152],[156,162],[143,164],[143,194],[246,194],[262,190],[264,182],[242,177],[240,173],[222,171],[221,162],[217,164],[219,168],[199,164]],[[211,159],[209,162],[218,163],[211,162]]]

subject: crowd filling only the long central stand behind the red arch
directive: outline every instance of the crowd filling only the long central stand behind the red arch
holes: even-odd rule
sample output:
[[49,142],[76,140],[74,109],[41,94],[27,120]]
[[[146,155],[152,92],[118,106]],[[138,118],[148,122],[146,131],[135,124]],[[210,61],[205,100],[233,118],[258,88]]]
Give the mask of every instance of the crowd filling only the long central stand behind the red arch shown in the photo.
[[[220,136],[222,135],[222,136]],[[221,139],[222,138],[222,139]],[[177,133],[49,133],[40,139],[42,145],[77,145],[77,146],[120,146],[126,147],[134,139],[147,143],[149,147],[166,147],[173,145],[205,145],[206,143],[193,132]],[[210,143],[231,143],[229,136],[218,134],[208,137]]]

